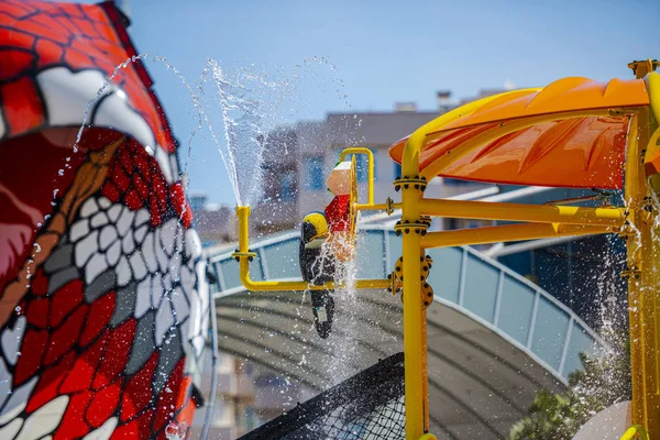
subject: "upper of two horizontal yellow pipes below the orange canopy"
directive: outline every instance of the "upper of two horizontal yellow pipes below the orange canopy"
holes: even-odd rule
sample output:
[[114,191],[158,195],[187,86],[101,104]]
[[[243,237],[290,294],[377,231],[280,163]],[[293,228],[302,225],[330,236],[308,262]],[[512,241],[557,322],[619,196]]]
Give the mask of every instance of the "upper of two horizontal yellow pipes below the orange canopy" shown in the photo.
[[443,199],[422,199],[420,207],[422,215],[457,219],[534,221],[615,228],[622,227],[625,222],[625,210],[622,208],[583,208]]

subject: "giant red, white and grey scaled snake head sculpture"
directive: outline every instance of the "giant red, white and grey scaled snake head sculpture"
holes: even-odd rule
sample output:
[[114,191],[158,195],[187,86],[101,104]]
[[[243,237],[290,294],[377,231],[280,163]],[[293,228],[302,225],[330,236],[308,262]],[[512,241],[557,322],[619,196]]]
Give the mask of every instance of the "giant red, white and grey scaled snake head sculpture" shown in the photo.
[[139,61],[95,100],[136,55],[112,3],[0,15],[0,438],[165,438],[209,306],[176,142]]

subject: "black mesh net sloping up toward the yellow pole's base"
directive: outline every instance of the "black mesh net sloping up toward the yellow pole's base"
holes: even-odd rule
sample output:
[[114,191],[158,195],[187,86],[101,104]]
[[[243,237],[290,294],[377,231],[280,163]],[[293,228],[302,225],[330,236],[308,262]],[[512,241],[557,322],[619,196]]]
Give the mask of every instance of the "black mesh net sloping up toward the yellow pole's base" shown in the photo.
[[404,353],[397,353],[241,440],[399,440],[406,437]]

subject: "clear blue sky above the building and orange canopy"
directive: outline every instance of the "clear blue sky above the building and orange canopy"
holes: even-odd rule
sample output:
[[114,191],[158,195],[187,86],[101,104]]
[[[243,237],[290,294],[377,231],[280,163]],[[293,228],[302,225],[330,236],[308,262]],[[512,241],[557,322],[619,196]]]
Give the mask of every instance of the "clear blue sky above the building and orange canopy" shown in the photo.
[[[432,110],[439,89],[461,98],[505,81],[628,78],[628,62],[660,57],[657,0],[131,0],[130,8],[138,50],[167,57],[189,81],[207,58],[268,73],[290,72],[314,56],[334,64],[337,70],[326,64],[306,70],[295,109],[282,121],[387,111],[396,101]],[[163,66],[147,68],[186,143],[195,128],[188,92]],[[194,140],[188,170],[191,191],[234,202],[208,138]]]

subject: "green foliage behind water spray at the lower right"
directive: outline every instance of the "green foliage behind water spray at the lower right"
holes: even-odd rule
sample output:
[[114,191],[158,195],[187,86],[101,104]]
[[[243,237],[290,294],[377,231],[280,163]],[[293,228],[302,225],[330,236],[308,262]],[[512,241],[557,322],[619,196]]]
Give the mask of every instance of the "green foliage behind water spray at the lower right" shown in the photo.
[[570,440],[594,415],[631,398],[630,344],[613,334],[614,346],[601,359],[580,353],[582,370],[569,376],[564,394],[539,392],[529,415],[512,428],[510,440]]

